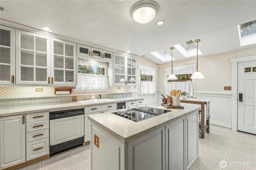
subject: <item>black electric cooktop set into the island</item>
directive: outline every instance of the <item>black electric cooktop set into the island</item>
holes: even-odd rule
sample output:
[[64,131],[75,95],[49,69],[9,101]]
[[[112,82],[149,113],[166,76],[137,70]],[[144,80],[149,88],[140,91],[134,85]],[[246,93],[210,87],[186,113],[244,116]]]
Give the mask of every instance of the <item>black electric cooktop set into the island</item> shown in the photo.
[[158,109],[154,107],[145,106],[145,107],[134,108],[126,111],[117,111],[117,112],[113,112],[113,114],[138,122],[138,121],[148,119],[150,117],[167,113],[169,111],[171,110]]

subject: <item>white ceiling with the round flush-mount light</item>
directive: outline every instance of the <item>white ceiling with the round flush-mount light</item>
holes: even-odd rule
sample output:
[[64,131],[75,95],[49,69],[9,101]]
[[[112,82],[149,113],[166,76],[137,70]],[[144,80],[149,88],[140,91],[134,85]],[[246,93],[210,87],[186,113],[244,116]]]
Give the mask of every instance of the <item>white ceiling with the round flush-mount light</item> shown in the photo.
[[[129,14],[133,0],[1,0],[7,12],[2,20],[40,29],[47,26],[52,33],[115,49],[131,51],[162,64],[150,55],[188,41],[198,43],[201,56],[224,53],[240,47],[238,27],[256,20],[255,0],[156,0],[160,11],[149,23],[140,24]],[[164,25],[156,21],[164,20]],[[177,49],[177,60],[186,59]]]

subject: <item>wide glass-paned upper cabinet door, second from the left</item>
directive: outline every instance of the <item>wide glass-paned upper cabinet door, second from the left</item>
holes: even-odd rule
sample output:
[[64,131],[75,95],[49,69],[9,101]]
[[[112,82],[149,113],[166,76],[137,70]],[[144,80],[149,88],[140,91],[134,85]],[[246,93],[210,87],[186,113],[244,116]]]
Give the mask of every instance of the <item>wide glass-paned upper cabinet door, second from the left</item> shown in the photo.
[[50,37],[16,29],[16,84],[50,84]]

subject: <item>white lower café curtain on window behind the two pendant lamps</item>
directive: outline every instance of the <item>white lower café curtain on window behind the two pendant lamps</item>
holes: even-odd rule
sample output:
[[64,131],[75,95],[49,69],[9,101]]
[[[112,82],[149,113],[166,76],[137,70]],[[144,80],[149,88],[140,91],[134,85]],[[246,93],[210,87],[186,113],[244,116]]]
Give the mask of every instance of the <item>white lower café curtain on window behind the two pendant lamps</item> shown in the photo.
[[165,94],[170,94],[170,91],[174,89],[187,92],[188,96],[194,96],[193,82],[167,82]]

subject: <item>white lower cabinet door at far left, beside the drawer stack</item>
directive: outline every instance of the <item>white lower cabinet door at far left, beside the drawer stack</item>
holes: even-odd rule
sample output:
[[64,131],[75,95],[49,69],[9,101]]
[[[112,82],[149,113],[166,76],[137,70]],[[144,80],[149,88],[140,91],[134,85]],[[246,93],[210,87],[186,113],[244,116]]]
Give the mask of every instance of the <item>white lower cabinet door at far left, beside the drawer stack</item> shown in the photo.
[[25,115],[0,118],[0,169],[26,161]]

